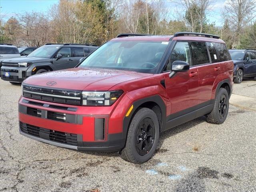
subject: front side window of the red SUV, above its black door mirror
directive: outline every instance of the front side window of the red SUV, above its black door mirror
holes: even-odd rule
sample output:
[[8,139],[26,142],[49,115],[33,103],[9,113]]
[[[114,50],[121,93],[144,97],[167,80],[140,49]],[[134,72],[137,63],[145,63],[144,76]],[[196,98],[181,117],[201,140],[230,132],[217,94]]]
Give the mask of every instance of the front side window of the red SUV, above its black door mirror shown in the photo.
[[164,68],[164,71],[171,70],[172,63],[174,61],[186,61],[191,65],[190,49],[188,42],[177,42],[172,53],[170,54],[169,60]]

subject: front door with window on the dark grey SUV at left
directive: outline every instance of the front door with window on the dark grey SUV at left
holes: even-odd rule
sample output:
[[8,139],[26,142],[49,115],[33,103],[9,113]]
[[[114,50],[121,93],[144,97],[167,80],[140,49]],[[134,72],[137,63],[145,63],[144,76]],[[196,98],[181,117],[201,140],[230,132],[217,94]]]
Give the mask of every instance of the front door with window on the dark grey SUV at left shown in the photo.
[[[62,58],[56,60],[57,54],[61,54]],[[72,64],[73,59],[71,58],[71,48],[62,47],[56,53],[55,58],[53,58],[53,65],[55,70],[73,68]]]

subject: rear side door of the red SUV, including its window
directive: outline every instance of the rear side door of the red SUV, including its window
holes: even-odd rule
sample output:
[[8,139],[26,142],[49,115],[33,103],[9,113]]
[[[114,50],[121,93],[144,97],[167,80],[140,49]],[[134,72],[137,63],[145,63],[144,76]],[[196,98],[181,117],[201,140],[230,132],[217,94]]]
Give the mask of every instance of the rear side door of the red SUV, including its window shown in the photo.
[[197,66],[199,75],[199,104],[207,105],[212,96],[213,84],[220,74],[217,53],[214,45],[210,42],[190,42],[190,45],[193,54],[193,66]]

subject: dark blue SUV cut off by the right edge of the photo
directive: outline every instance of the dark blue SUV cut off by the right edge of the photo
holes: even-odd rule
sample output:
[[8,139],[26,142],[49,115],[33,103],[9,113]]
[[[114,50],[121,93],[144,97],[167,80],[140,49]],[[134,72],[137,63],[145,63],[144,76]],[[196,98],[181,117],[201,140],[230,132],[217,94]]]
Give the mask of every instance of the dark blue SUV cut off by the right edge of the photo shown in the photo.
[[256,50],[230,49],[234,62],[234,82],[241,83],[244,77],[256,77]]

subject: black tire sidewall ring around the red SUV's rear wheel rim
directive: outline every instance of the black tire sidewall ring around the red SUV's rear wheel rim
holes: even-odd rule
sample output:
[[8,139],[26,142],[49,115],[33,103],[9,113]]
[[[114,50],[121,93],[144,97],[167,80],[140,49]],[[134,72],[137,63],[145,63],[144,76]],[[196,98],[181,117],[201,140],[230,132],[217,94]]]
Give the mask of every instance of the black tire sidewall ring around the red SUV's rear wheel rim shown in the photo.
[[[219,116],[219,102],[220,102],[220,98],[221,98],[221,96],[222,96],[223,94],[225,94],[225,96],[226,96],[226,102],[227,102],[226,105],[227,105],[227,107],[226,107],[226,114],[225,114],[224,117],[221,119],[220,116]],[[217,98],[216,98],[216,104],[215,104],[215,105],[216,105],[216,106],[215,106],[214,116],[217,118],[218,123],[219,123],[219,124],[222,124],[222,123],[226,120],[226,118],[227,118],[227,116],[228,116],[228,109],[229,109],[229,96],[228,96],[228,92],[227,92],[226,89],[220,88],[220,90],[219,90],[219,92],[218,92],[218,95],[217,95]]]

